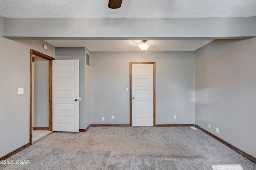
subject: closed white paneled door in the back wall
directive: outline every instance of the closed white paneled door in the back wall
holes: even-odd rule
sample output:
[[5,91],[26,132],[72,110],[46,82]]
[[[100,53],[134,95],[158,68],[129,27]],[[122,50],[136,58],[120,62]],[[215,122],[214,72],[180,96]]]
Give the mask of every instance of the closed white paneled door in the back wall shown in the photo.
[[132,126],[154,125],[153,64],[132,64]]

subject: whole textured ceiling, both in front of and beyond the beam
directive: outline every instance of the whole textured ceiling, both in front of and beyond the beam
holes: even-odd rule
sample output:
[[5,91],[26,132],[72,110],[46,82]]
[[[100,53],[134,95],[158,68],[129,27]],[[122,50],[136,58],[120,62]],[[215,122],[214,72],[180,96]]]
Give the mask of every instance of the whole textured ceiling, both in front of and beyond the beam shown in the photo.
[[[256,0],[0,0],[6,18],[215,18],[256,16]],[[45,40],[54,47],[140,51],[140,40]],[[148,51],[194,51],[212,40],[148,40]]]

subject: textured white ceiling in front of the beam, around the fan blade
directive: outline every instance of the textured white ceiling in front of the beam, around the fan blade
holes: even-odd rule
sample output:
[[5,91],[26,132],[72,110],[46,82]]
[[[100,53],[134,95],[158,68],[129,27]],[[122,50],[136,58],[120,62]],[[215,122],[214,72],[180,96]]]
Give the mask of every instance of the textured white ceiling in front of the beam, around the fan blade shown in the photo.
[[205,18],[256,16],[255,0],[0,0],[8,18]]

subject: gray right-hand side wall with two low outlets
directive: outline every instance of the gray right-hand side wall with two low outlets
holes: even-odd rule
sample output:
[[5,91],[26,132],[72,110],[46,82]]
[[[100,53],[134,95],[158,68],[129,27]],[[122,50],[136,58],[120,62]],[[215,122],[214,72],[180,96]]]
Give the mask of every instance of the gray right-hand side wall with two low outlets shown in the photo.
[[256,38],[215,40],[195,51],[196,125],[254,158],[255,54]]

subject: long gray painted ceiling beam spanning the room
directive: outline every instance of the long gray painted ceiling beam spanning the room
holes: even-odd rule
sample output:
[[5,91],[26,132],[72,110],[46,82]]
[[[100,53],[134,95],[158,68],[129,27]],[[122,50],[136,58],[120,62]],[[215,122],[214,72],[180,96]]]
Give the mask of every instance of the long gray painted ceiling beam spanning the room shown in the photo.
[[[35,29],[33,26],[37,26]],[[189,29],[188,29],[189,28]],[[256,36],[256,18],[4,18],[11,39],[194,39]],[[157,31],[156,31],[157,30]],[[228,30],[228,31],[227,31]],[[242,30],[242,31],[241,31]]]

